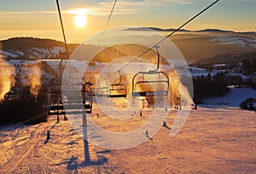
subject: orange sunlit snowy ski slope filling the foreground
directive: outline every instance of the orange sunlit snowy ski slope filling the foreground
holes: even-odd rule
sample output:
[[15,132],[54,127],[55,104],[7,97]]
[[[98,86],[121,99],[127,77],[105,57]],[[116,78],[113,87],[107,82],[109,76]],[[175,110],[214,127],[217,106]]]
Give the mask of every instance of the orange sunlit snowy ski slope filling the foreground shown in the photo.
[[[142,125],[147,113],[143,110],[143,117],[134,115],[125,124],[110,121],[97,107],[88,116],[99,126],[122,132]],[[176,114],[177,110],[169,111],[167,126],[172,126]],[[59,123],[50,116],[47,123],[1,126],[0,132],[0,173],[256,172],[256,114],[236,107],[200,106],[191,110],[176,137],[160,125],[157,134],[148,132],[148,141],[131,149],[109,150],[89,143],[86,162],[83,138],[62,116]]]

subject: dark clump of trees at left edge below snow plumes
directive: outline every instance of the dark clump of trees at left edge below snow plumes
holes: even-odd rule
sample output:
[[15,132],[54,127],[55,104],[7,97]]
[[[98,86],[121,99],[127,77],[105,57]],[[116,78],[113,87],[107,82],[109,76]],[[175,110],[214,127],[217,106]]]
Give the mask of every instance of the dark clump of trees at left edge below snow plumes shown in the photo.
[[[36,124],[47,121],[47,98],[44,89],[41,89],[38,96],[30,93],[30,87],[21,87],[15,92],[15,97],[7,96],[0,102],[0,125],[8,123],[24,122]],[[46,115],[42,115],[42,113]]]

